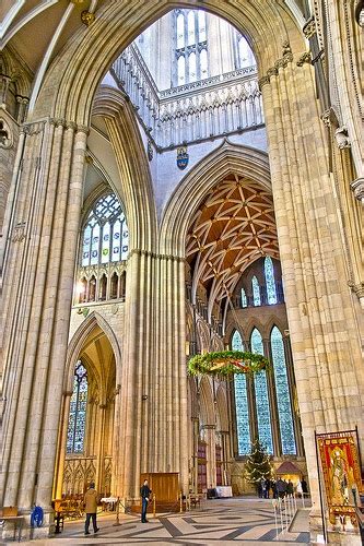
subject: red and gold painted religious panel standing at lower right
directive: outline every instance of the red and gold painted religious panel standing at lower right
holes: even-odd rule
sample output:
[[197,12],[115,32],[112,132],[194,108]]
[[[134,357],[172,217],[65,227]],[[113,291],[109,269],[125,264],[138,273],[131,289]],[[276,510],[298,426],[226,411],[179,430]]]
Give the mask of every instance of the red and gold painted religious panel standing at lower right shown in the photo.
[[355,431],[317,435],[330,522],[353,519],[362,491],[360,454]]

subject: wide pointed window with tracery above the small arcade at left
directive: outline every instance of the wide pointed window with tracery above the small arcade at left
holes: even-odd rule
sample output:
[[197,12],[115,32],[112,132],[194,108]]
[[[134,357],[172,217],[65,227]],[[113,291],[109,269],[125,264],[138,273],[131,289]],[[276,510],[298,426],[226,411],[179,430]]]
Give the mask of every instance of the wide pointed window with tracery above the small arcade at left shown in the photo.
[[82,265],[126,260],[129,230],[121,205],[115,195],[102,197],[90,212],[83,228]]

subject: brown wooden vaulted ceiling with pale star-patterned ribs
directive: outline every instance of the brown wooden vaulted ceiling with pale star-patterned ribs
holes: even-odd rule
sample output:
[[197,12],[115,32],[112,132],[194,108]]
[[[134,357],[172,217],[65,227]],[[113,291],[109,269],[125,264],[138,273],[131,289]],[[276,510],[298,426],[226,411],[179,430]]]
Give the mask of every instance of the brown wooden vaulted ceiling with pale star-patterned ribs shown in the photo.
[[262,256],[279,259],[272,195],[232,174],[209,193],[190,224],[186,258],[192,287],[202,283],[210,300],[219,301]]

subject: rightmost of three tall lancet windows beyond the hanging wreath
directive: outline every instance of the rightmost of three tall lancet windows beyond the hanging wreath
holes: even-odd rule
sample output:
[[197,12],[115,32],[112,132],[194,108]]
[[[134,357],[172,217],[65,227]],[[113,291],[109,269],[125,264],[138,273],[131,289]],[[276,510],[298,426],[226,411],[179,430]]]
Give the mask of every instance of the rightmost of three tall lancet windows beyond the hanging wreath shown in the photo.
[[295,455],[296,443],[294,439],[290,385],[286,373],[283,337],[277,327],[272,329],[270,341],[272,347],[278,415],[282,440],[282,453],[283,455]]

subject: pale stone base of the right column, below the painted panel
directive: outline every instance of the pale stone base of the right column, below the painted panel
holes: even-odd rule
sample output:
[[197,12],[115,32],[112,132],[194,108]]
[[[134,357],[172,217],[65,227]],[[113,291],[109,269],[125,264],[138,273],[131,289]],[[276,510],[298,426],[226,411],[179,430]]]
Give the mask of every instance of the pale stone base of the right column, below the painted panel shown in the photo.
[[[350,545],[350,546],[361,546],[362,539],[359,533],[359,529],[354,527],[350,522],[345,525],[345,531],[343,531],[342,525],[339,521],[333,525],[330,522],[327,524],[327,543],[337,545]],[[322,519],[321,513],[316,509],[313,509],[309,513],[309,533],[310,533],[310,544],[324,544],[324,531],[322,531]]]

